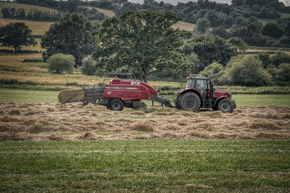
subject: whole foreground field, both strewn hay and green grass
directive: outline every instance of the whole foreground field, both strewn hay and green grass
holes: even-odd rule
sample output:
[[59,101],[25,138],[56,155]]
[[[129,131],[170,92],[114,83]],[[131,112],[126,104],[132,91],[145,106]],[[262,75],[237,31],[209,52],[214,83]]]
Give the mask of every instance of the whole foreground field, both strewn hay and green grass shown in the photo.
[[289,192],[289,125],[289,106],[1,102],[0,191]]

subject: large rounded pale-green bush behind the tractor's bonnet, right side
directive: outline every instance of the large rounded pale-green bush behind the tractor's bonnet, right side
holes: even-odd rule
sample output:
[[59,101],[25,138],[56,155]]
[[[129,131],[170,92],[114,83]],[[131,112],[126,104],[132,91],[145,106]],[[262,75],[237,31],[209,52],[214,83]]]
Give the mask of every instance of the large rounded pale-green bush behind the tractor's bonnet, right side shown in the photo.
[[262,61],[254,55],[234,57],[227,64],[227,76],[233,85],[267,86],[273,80],[263,68]]

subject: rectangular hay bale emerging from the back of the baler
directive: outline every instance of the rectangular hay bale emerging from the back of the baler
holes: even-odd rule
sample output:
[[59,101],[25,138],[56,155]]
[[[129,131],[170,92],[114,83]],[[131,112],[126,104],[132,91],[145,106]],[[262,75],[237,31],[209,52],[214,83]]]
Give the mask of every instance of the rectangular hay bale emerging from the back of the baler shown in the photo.
[[[71,99],[70,99],[70,97],[71,97]],[[65,101],[70,102],[70,101],[85,99],[84,89],[79,88],[79,89],[72,89],[72,90],[61,90],[61,91],[59,91],[57,98],[58,98],[59,103],[62,103]]]

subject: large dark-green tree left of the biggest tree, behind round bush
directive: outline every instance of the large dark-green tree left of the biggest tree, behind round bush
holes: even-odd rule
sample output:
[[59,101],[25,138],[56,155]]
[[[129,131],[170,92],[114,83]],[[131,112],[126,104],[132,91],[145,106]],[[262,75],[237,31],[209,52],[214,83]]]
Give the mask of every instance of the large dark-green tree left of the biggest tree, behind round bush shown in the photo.
[[92,22],[76,13],[66,14],[59,22],[52,24],[41,37],[42,57],[46,60],[53,54],[71,54],[75,57],[77,65],[93,50],[90,32],[93,30]]

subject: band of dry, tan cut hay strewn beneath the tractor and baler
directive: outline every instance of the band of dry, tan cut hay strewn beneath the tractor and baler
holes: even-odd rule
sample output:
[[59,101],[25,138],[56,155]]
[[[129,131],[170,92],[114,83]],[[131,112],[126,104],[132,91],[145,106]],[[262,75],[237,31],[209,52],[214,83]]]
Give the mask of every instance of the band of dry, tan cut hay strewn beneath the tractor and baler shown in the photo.
[[290,138],[287,106],[238,106],[226,114],[148,108],[152,113],[80,103],[0,103],[0,141]]

